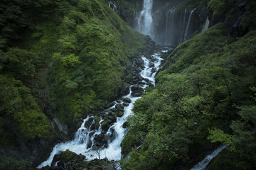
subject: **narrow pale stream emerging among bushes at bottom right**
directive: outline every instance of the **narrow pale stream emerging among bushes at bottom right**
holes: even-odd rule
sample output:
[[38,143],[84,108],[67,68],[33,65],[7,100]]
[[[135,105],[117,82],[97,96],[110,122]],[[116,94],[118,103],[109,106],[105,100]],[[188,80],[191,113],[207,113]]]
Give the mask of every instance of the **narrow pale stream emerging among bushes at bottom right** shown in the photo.
[[220,152],[222,152],[223,149],[225,149],[225,147],[227,147],[227,146],[226,145],[222,145],[218,149],[215,149],[215,151],[213,151],[211,154],[208,154],[206,156],[206,158],[203,159],[203,161],[201,161],[198,164],[196,164],[196,166],[193,166],[193,168],[191,170],[203,170],[203,169],[206,169],[206,166],[208,166],[210,161],[214,157],[216,157]]

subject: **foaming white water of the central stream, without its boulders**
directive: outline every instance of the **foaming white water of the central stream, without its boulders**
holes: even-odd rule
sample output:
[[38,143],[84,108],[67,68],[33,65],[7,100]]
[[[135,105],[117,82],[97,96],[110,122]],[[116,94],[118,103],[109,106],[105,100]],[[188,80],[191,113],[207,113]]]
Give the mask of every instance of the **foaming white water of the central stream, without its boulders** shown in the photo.
[[[155,53],[155,55],[152,55],[152,57],[155,59],[154,68],[156,69],[156,72],[160,67],[161,60],[163,60],[161,59],[160,55],[161,55],[160,52]],[[140,72],[140,74],[142,77],[144,77],[144,79],[149,79],[151,84],[154,85],[155,84],[154,77],[156,75],[156,72],[154,72],[153,74],[151,73],[152,68],[149,68],[149,63],[151,61],[146,59],[146,57],[144,56],[142,56],[142,60],[144,60],[145,68],[144,70],[142,70],[142,72]],[[146,83],[146,81],[144,82]],[[145,84],[141,87],[145,90],[146,86],[148,85]],[[123,98],[129,98],[132,102],[129,103],[129,106],[124,107],[124,115],[121,118],[117,118],[117,122],[114,123],[114,125],[110,126],[110,128],[107,130],[105,134],[102,133],[102,128],[101,128],[101,124],[104,120],[101,119],[100,127],[98,129],[95,129],[95,128],[92,128],[92,126],[95,125],[95,119],[94,119],[95,117],[87,116],[87,118],[83,120],[83,123],[81,127],[78,129],[78,131],[75,132],[74,140],[70,140],[65,143],[62,142],[55,145],[55,147],[53,147],[53,151],[50,154],[50,157],[45,162],[40,164],[37,168],[41,169],[43,166],[47,166],[47,165],[50,166],[50,164],[53,162],[53,157],[55,156],[55,154],[63,152],[67,149],[69,149],[71,152],[75,152],[76,154],[85,155],[87,161],[98,158],[99,156],[100,156],[100,159],[104,159],[105,157],[107,157],[107,159],[110,159],[110,160],[121,159],[122,155],[121,155],[120,144],[127,133],[127,129],[122,128],[122,125],[127,120],[127,117],[133,114],[132,108],[134,107],[135,101],[141,98],[141,97],[132,96],[131,87],[129,88],[130,89],[129,94],[127,96],[123,96]],[[123,101],[115,101],[115,105],[117,105],[117,103],[122,104]],[[112,106],[111,108],[114,108],[115,105]],[[110,111],[111,108],[107,109],[105,113],[108,114],[107,112]],[[86,128],[85,123],[87,123],[88,121],[91,122],[91,125],[89,128]],[[112,129],[114,129],[114,132],[112,132]],[[108,141],[107,148],[103,146],[103,147],[97,147],[97,149],[95,149],[94,138],[97,135],[103,134],[105,135],[105,137],[106,136],[110,137],[112,133],[114,133],[115,138],[114,140],[112,140],[112,142],[110,140]]]

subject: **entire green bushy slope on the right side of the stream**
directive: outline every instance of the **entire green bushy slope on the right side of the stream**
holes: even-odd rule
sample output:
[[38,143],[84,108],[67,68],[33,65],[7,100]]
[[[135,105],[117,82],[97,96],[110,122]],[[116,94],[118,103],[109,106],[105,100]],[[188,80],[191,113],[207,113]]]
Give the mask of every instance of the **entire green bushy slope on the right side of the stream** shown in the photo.
[[254,1],[245,10],[238,32],[218,23],[171,52],[156,87],[135,103],[123,169],[188,169],[210,142],[229,147],[208,169],[255,169]]

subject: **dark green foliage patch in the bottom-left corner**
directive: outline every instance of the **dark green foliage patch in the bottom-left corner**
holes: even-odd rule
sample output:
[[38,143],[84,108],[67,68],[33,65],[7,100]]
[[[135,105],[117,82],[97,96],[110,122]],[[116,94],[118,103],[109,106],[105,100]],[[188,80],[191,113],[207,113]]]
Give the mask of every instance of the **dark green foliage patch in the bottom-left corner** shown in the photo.
[[31,162],[26,160],[17,160],[13,157],[1,157],[0,169],[26,170],[31,166]]

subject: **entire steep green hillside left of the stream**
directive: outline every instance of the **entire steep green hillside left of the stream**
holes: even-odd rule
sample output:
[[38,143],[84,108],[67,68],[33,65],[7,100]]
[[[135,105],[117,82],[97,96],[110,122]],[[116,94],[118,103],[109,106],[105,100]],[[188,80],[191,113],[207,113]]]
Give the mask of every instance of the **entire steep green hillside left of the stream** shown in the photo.
[[1,9],[0,164],[26,167],[123,93],[148,39],[101,0],[12,0]]

